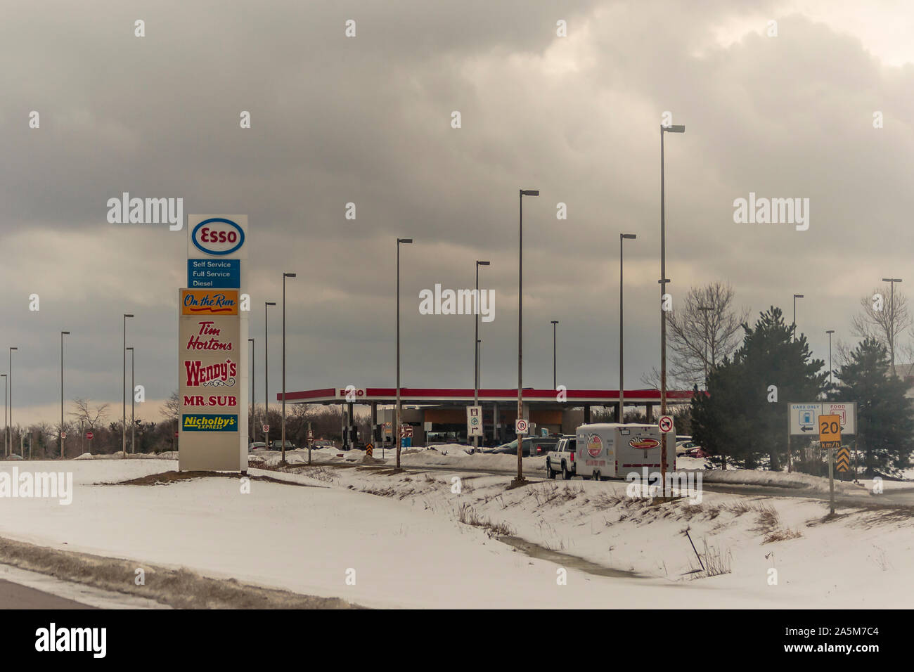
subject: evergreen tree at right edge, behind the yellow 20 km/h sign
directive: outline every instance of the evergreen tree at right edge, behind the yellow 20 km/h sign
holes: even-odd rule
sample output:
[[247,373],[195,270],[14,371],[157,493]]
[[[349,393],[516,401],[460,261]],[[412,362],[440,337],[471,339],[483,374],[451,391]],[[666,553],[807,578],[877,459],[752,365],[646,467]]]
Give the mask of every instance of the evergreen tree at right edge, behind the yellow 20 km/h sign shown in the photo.
[[857,402],[856,449],[866,453],[866,475],[910,466],[914,409],[907,384],[890,375],[887,348],[876,338],[861,341],[839,369],[832,399]]

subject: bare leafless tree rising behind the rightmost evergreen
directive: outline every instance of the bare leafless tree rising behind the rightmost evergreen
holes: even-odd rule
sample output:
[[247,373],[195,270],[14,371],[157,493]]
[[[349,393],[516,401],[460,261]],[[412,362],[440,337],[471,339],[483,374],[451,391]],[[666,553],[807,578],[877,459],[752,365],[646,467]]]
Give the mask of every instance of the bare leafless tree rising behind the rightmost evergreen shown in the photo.
[[[851,320],[851,333],[860,338],[875,338],[886,347],[888,357],[895,372],[895,355],[900,352],[902,356],[914,355],[914,347],[908,343],[899,343],[899,337],[911,327],[911,315],[908,308],[908,297],[900,290],[893,291],[890,285],[877,287],[869,296],[860,298],[861,311]],[[914,363],[906,362],[907,371],[902,374],[908,376]]]

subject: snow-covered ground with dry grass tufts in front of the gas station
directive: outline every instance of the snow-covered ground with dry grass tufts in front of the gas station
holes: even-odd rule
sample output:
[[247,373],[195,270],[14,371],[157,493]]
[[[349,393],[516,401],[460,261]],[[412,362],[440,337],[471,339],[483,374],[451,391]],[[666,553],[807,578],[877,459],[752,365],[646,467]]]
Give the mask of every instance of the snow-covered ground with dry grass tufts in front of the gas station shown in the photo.
[[[429,453],[404,455],[403,462],[516,464],[511,455]],[[175,469],[171,460],[19,462],[0,470],[14,464],[20,472],[71,471],[75,492],[69,506],[0,498],[0,537],[366,606],[906,607],[914,597],[914,519],[842,510],[824,521],[827,509],[809,499],[706,492],[700,505],[652,507],[627,497],[624,483],[547,481],[509,491],[508,476],[461,475],[459,467],[421,475],[251,469],[309,486],[254,480],[243,494],[239,479],[229,477],[100,485]],[[595,575],[574,558],[528,557],[486,526],[644,578]],[[698,562],[685,528],[705,561],[717,560],[728,573],[687,573]],[[557,581],[563,569],[567,584]]]

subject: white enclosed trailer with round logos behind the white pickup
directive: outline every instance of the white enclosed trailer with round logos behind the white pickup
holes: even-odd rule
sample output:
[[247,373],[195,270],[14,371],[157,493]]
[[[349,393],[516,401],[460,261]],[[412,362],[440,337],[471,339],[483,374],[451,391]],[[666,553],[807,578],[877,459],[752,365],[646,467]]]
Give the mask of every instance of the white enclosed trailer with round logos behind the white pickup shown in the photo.
[[[625,478],[642,468],[660,470],[664,434],[655,424],[582,424],[575,432],[576,474],[584,478]],[[666,469],[676,466],[675,434],[666,434]]]

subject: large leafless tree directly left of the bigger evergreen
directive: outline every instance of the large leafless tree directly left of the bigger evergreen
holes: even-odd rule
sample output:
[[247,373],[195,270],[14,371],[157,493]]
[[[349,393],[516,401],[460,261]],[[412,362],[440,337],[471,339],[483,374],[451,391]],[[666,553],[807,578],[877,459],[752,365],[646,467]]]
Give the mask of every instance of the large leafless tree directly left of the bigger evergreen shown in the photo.
[[708,371],[739,347],[749,308],[737,309],[733,296],[729,283],[692,287],[680,307],[666,314],[671,379],[686,387],[704,386]]

